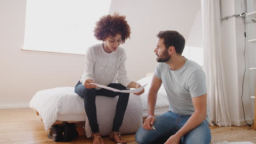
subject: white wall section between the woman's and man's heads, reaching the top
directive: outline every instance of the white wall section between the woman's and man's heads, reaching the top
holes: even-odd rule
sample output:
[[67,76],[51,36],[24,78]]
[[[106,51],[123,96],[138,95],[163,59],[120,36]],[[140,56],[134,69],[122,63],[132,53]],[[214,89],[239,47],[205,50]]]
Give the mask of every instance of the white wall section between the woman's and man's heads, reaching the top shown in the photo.
[[[153,72],[157,64],[153,52],[156,34],[159,31],[174,30],[187,40],[200,10],[199,0],[112,0],[109,13],[126,15],[131,26],[131,39],[121,45],[126,50],[128,77],[138,80],[146,76],[146,73]],[[195,34],[191,37],[195,37]]]

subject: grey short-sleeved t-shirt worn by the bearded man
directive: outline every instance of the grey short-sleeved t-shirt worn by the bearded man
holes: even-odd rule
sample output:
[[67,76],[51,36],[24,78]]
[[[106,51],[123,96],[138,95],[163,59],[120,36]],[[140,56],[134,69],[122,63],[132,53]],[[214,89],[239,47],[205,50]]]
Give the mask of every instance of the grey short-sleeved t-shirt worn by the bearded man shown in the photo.
[[192,115],[192,97],[207,93],[205,73],[199,64],[188,59],[178,70],[171,70],[166,63],[158,63],[154,75],[162,80],[173,113]]

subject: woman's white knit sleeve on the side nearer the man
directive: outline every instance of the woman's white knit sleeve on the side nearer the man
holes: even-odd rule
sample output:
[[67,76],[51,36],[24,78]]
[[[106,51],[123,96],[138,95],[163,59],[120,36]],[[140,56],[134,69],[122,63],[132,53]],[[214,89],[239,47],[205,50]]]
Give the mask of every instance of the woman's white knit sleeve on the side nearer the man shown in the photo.
[[118,80],[118,83],[121,83],[123,86],[127,87],[129,85],[129,83],[131,83],[132,81],[128,80],[128,78],[126,76],[127,71],[125,68],[125,62],[126,62],[126,53],[124,51],[123,58],[121,59],[121,63],[118,68],[117,80]]

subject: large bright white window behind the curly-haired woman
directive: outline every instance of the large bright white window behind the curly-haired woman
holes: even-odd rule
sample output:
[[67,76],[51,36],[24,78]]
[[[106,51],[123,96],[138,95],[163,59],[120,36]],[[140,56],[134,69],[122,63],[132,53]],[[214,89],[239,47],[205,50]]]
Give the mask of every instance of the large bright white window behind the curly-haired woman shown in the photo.
[[27,0],[24,50],[85,54],[111,0]]

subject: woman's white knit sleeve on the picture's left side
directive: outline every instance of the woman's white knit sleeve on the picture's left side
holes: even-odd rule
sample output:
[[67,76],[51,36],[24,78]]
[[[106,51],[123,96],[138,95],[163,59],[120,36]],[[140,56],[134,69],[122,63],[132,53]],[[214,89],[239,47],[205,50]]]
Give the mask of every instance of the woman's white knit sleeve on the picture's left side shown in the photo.
[[85,66],[84,73],[80,79],[80,82],[84,85],[85,80],[92,79],[94,80],[94,51],[88,49],[85,55]]

